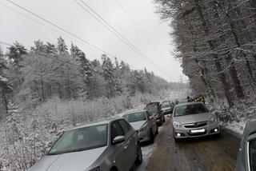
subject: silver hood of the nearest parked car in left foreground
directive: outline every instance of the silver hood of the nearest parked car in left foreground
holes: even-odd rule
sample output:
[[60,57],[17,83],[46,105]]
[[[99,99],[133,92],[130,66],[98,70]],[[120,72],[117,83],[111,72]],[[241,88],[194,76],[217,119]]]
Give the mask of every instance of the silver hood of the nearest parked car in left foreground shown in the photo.
[[104,152],[106,147],[81,152],[42,157],[29,171],[85,171]]

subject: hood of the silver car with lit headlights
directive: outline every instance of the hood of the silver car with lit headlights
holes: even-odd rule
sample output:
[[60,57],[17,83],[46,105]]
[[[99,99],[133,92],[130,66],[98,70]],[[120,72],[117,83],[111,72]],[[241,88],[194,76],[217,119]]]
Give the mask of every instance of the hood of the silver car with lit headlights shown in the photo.
[[198,113],[198,114],[190,114],[181,117],[174,117],[173,121],[178,121],[182,124],[200,122],[200,121],[208,121],[210,117],[212,117],[212,113]]

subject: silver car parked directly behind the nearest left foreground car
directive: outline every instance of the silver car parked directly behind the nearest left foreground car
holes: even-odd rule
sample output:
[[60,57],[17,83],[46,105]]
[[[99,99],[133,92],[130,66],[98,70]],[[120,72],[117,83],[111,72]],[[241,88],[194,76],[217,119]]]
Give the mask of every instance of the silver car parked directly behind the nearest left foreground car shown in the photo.
[[158,133],[157,120],[148,110],[142,110],[124,114],[122,117],[130,122],[130,125],[138,131],[140,142],[154,142],[154,136]]

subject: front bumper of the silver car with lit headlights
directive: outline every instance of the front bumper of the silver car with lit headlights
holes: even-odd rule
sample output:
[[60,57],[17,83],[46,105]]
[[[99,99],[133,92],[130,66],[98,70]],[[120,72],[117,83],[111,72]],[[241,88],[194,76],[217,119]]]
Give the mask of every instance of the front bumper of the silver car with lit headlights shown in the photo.
[[[203,131],[204,130],[204,131]],[[215,122],[211,125],[206,125],[198,128],[174,128],[174,137],[175,138],[186,138],[186,137],[204,137],[207,135],[213,135],[220,133],[219,123]]]

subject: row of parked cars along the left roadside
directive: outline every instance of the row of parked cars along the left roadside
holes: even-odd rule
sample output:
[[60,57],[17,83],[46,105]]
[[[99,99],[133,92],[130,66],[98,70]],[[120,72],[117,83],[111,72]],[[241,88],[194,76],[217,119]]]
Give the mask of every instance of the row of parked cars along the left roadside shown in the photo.
[[141,143],[154,142],[164,114],[173,108],[170,101],[155,101],[122,117],[68,129],[29,170],[129,171],[142,163]]

